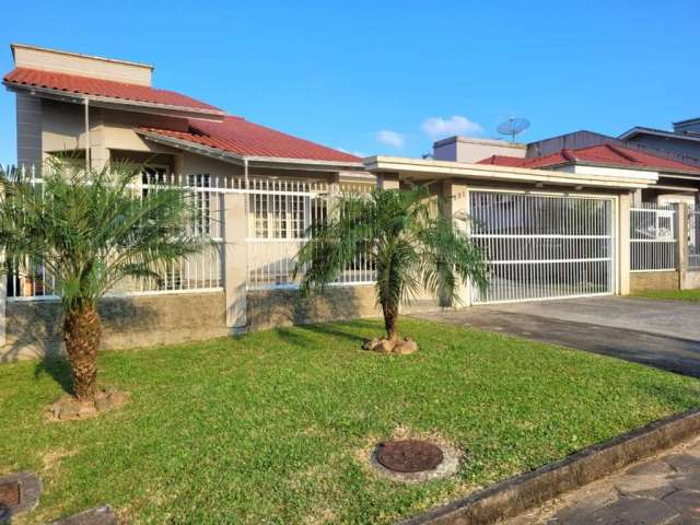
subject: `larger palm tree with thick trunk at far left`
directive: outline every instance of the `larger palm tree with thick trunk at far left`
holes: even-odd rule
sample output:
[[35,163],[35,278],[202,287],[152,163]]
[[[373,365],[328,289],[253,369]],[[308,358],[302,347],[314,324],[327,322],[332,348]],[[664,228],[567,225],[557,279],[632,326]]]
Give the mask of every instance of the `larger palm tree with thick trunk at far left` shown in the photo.
[[96,394],[100,300],[128,278],[159,280],[168,264],[201,250],[192,199],[175,187],[135,189],[140,168],[78,168],[50,162],[40,184],[0,168],[0,252],[15,270],[37,264],[56,281],[73,394]]

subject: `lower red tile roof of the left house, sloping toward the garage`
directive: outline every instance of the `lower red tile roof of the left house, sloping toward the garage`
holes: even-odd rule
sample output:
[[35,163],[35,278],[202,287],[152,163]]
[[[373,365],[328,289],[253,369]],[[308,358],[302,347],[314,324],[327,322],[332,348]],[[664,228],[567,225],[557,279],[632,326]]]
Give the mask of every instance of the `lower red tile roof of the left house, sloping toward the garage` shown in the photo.
[[222,122],[200,119],[189,120],[188,131],[160,128],[141,128],[161,137],[186,140],[241,156],[270,156],[330,162],[361,162],[361,159],[342,151],[299,139],[276,131],[241,117],[228,116]]

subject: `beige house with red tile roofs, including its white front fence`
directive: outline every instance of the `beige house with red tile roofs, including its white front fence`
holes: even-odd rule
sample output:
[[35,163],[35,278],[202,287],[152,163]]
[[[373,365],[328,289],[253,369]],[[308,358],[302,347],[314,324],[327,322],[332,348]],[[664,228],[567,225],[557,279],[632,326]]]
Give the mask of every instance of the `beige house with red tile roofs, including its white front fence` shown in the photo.
[[[93,166],[144,165],[143,191],[173,182],[191,188],[202,210],[197,231],[221,241],[211,254],[168,269],[159,285],[115,290],[105,303],[107,347],[374,315],[366,261],[313,304],[299,306],[290,295],[294,256],[311,221],[325,213],[334,192],[377,184],[361,159],[155,88],[149,65],[19,44],[11,49],[15,68],[3,84],[16,97],[20,165],[33,170],[54,155]],[[51,277],[40,267],[33,273],[11,275],[0,290],[8,296],[8,355],[43,352],[27,350],[36,340],[57,345]],[[110,320],[118,317],[110,311],[127,320]]]

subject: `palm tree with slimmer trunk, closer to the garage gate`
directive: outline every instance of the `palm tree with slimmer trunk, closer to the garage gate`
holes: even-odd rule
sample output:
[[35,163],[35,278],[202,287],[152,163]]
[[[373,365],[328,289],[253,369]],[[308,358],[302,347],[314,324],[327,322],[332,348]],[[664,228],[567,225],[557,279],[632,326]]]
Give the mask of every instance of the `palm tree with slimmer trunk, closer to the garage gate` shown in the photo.
[[[386,340],[398,341],[399,304],[427,290],[459,303],[460,282],[487,283],[481,250],[428,199],[428,189],[376,189],[369,196],[341,196],[320,224],[307,232],[294,273],[302,290],[323,289],[357,260],[369,257],[376,272],[376,303],[384,314]],[[439,207],[442,208],[442,207]]]

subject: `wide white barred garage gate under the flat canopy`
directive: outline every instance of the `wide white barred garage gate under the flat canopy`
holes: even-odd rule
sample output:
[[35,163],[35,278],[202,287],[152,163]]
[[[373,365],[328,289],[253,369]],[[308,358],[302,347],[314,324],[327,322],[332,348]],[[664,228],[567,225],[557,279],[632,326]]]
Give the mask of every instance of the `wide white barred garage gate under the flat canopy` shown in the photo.
[[470,190],[469,209],[489,267],[475,304],[614,293],[612,199]]

